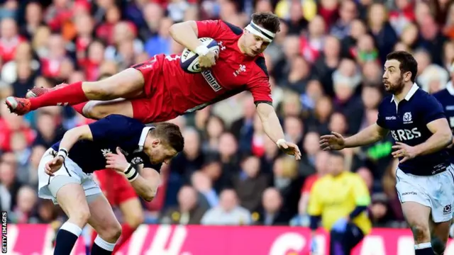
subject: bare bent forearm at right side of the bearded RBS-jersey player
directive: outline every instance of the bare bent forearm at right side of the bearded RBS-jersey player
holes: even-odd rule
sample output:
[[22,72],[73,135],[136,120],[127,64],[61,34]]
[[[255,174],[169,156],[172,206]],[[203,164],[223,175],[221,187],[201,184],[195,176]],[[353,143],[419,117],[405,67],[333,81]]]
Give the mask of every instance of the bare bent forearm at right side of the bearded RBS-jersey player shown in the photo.
[[416,150],[416,155],[426,155],[433,152],[438,152],[439,150],[448,147],[453,143],[453,133],[451,132],[448,120],[446,120],[446,118],[433,120],[426,126],[433,135],[431,135],[431,137],[429,137],[426,142],[423,142],[420,145],[416,145],[414,147]]

